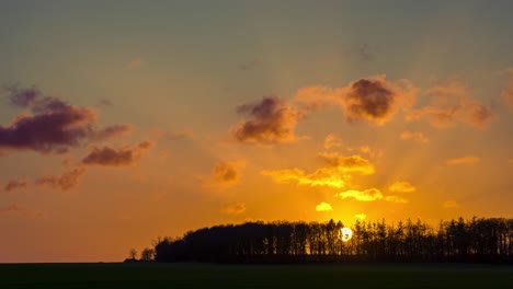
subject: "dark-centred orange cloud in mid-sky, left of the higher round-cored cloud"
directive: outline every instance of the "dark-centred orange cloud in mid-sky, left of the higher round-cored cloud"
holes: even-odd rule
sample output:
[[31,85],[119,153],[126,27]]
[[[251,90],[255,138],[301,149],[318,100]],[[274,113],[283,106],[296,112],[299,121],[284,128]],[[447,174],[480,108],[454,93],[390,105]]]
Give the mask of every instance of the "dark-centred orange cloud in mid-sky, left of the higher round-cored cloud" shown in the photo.
[[277,97],[264,97],[260,103],[238,107],[240,114],[251,117],[231,131],[239,142],[264,146],[294,142],[294,129],[303,114]]

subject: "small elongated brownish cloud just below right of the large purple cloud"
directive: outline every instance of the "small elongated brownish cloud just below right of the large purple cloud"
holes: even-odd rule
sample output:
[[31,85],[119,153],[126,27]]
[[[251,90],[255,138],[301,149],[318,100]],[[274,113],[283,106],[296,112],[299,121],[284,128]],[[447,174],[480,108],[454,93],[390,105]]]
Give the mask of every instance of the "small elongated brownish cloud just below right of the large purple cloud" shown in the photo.
[[138,161],[142,151],[150,147],[151,143],[149,141],[144,141],[134,148],[113,149],[106,146],[102,148],[93,147],[91,152],[82,159],[82,163],[103,166],[126,166]]

